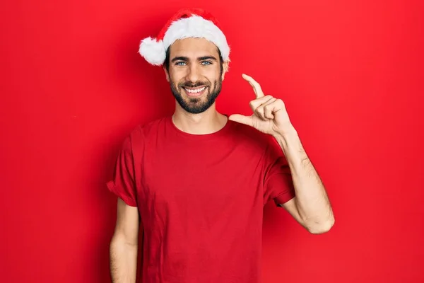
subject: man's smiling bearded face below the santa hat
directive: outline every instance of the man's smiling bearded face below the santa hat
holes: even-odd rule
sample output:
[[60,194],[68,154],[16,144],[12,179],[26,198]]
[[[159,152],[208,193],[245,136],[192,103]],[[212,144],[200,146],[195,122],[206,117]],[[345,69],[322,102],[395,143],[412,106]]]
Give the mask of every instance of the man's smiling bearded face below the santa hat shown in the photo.
[[215,103],[228,63],[221,70],[218,48],[203,38],[177,40],[170,48],[167,81],[179,105],[201,113]]

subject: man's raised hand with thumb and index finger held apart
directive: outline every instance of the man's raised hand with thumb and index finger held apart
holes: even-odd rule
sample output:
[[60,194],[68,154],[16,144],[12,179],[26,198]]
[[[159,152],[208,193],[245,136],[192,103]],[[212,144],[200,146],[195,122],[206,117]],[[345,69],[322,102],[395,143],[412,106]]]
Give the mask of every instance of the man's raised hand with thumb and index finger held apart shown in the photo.
[[252,86],[256,99],[250,101],[253,114],[245,116],[240,114],[230,115],[229,120],[249,125],[274,137],[283,136],[293,130],[283,100],[273,96],[264,96],[261,86],[251,76],[242,75],[243,79]]

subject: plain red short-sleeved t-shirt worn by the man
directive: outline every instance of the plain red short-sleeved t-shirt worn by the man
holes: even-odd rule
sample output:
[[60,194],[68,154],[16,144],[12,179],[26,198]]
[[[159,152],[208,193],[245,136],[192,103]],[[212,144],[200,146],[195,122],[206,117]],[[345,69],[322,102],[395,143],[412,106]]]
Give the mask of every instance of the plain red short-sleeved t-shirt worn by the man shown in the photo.
[[295,196],[270,135],[230,120],[187,134],[170,116],[126,137],[107,187],[139,209],[143,283],[261,282],[264,204]]

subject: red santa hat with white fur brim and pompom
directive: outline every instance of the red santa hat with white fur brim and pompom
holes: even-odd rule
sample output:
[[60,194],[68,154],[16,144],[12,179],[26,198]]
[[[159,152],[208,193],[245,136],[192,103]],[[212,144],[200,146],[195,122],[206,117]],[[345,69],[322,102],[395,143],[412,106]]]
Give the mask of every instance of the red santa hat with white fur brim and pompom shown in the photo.
[[220,50],[223,60],[230,59],[230,47],[218,21],[199,8],[183,9],[175,13],[156,38],[147,37],[141,40],[139,53],[150,64],[162,65],[167,48],[175,40],[187,37],[203,37],[213,42]]

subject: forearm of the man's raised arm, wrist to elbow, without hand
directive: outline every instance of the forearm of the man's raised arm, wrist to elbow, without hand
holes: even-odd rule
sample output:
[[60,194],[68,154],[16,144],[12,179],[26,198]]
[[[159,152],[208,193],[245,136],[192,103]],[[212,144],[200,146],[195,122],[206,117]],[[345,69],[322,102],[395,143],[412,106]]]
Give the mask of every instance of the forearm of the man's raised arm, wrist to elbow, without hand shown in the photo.
[[298,132],[292,128],[275,138],[290,166],[300,218],[314,231],[328,230],[334,224],[331,204],[321,178],[303,149]]

